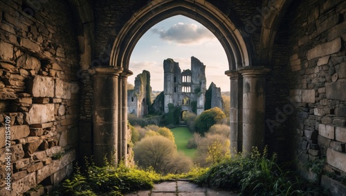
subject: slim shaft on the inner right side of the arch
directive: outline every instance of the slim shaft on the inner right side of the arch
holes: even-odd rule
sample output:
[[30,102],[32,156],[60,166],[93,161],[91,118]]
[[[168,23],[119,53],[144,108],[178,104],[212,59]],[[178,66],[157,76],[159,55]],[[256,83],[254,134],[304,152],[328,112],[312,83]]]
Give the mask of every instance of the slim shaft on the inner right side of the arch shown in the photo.
[[225,72],[230,77],[230,154],[242,152],[242,75],[235,70]]

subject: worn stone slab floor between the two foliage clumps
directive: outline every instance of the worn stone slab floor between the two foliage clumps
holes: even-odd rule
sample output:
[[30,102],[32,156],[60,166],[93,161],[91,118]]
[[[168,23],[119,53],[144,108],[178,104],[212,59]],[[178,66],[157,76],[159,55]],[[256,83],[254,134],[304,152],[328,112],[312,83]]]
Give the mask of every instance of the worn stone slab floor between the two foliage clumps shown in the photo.
[[128,193],[125,196],[236,196],[239,193],[232,193],[225,190],[213,190],[211,188],[199,187],[187,180],[164,181],[161,184],[154,184],[152,190],[140,190],[136,193]]

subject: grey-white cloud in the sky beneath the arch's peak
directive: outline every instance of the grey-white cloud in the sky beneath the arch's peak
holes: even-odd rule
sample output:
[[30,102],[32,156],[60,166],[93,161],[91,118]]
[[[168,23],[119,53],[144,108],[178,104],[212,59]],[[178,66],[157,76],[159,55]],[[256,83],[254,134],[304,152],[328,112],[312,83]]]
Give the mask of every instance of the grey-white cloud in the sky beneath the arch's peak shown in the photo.
[[168,30],[153,28],[152,32],[160,35],[160,38],[163,40],[178,44],[198,44],[208,39],[216,39],[215,35],[212,35],[204,26],[181,22],[174,24]]

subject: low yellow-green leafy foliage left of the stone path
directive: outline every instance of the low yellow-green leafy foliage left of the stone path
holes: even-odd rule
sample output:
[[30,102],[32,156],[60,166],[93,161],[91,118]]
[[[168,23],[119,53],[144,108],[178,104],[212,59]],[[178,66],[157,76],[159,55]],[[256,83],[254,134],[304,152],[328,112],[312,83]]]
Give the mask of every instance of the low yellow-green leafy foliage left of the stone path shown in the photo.
[[[116,166],[95,166],[86,161],[86,171],[76,172],[62,183],[62,188],[51,195],[123,195],[135,190],[150,189],[161,176],[153,170],[127,168],[123,163]],[[58,193],[57,193],[58,192]]]

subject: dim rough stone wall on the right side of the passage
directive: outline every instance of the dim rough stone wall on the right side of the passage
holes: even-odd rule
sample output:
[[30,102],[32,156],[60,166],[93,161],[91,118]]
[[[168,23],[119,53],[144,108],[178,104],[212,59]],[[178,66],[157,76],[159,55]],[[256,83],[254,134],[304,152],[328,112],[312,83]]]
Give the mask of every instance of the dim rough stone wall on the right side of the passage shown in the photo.
[[345,177],[346,2],[294,1],[288,15],[294,156],[309,179],[315,175],[303,166],[316,159],[326,159],[325,170]]

